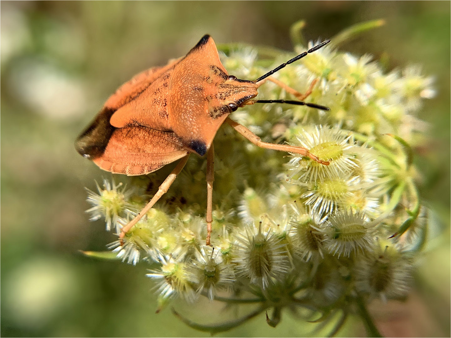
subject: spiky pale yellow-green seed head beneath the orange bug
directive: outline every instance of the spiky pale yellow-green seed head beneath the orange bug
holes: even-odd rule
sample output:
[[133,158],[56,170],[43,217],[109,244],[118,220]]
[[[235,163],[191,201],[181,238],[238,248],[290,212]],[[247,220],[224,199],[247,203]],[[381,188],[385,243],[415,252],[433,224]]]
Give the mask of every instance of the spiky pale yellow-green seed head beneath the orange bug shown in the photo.
[[[109,245],[123,262],[152,265],[147,276],[158,294],[157,311],[178,297],[207,297],[232,310],[242,304],[254,308],[210,325],[174,313],[196,329],[218,333],[258,315],[264,319],[271,309],[267,323],[276,326],[288,308],[297,318],[310,314],[306,320],[318,325],[334,321],[331,334],[355,314],[369,334],[378,334],[368,302],[409,296],[428,233],[410,142],[424,131],[415,116],[436,91],[433,78],[418,66],[387,73],[369,55],[336,49],[346,37],[381,24],[350,27],[272,75],[296,91],[309,91],[305,101],[329,111],[265,104],[230,114],[263,142],[303,146],[329,165],[258,148],[225,125],[214,141],[213,247],[203,245],[206,166],[196,156],[124,240]],[[298,26],[292,34],[299,34],[303,25]],[[313,45],[298,43],[295,52]],[[295,53],[224,45],[220,55],[230,74],[254,80]],[[258,92],[257,99],[297,99],[271,81]],[[161,182],[164,174],[157,171],[147,180]],[[108,231],[119,233],[148,200],[145,180],[133,179],[131,185],[125,189],[104,180],[98,193],[88,190],[90,220],[104,219]]]

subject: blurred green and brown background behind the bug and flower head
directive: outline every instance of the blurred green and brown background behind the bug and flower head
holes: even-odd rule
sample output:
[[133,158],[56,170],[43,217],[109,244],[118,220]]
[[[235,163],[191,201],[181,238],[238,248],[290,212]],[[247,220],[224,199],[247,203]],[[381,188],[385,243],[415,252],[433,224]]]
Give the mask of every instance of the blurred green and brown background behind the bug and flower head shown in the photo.
[[[105,250],[115,236],[84,214],[84,187],[110,175],[78,155],[74,139],[122,82],[184,55],[205,33],[216,43],[291,50],[289,28],[299,19],[316,41],[375,18],[387,24],[342,50],[382,55],[387,70],[423,64],[423,73],[435,76],[438,95],[419,116],[431,123],[430,142],[416,163],[424,204],[439,227],[408,306],[376,301],[372,314],[387,335],[449,336],[449,1],[1,1],[1,335],[207,336],[169,308],[154,313],[145,262],[133,267],[78,253]],[[204,323],[224,310],[208,301],[175,306]],[[224,336],[304,336],[312,329],[289,314],[272,329],[260,316]],[[351,318],[339,334],[364,330]]]

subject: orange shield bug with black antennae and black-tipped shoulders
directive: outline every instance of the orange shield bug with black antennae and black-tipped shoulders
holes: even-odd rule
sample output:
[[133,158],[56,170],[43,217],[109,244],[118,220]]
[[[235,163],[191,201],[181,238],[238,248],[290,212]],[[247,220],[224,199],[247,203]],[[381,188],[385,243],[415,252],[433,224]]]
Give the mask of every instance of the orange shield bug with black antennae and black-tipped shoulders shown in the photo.
[[[147,69],[124,83],[106,101],[92,123],[81,133],[75,148],[101,169],[115,174],[144,175],[181,159],[158,188],[151,201],[126,224],[120,239],[163,196],[183,169],[191,153],[207,154],[207,245],[212,232],[212,193],[214,179],[213,138],[226,122],[257,146],[308,156],[329,164],[308,149],[262,142],[248,128],[229,118],[230,113],[255,103],[288,103],[329,110],[304,102],[302,95],[271,75],[287,64],[318,50],[330,41],[288,60],[254,81],[229,75],[221,64],[215,42],[205,35],[185,57],[166,66]],[[296,100],[252,100],[266,80],[295,95]]]

